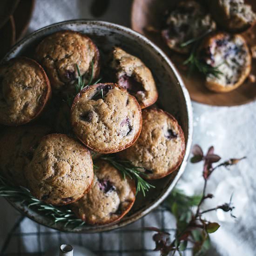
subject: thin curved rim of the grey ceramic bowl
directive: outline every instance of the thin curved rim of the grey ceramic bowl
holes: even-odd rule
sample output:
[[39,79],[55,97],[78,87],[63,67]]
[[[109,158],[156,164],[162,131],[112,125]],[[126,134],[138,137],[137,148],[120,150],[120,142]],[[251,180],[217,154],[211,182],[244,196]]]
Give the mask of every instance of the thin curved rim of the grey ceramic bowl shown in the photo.
[[20,211],[21,214],[25,214],[31,220],[33,220],[37,223],[40,223],[41,225],[47,226],[48,228],[57,229],[57,230],[60,230],[62,232],[96,233],[96,232],[109,231],[109,230],[121,228],[121,227],[124,227],[128,224],[131,224],[132,222],[135,222],[135,221],[139,220],[141,217],[147,215],[153,209],[158,207],[164,201],[164,199],[169,195],[169,193],[172,191],[172,189],[175,187],[176,183],[178,182],[178,180],[180,179],[180,177],[184,173],[185,167],[186,167],[187,162],[188,162],[190,149],[191,149],[191,145],[192,145],[193,112],[192,112],[192,104],[191,104],[191,100],[190,100],[190,97],[189,97],[189,92],[188,92],[187,88],[185,87],[181,76],[179,75],[179,73],[176,70],[174,64],[168,58],[168,56],[158,46],[156,46],[152,41],[150,41],[144,35],[132,30],[131,28],[124,27],[124,26],[121,26],[121,25],[118,25],[118,24],[115,24],[115,23],[112,23],[112,22],[101,21],[101,20],[90,20],[90,19],[75,19],[75,20],[65,20],[65,21],[53,23],[53,24],[48,25],[46,27],[42,27],[42,28],[32,32],[31,34],[28,34],[22,40],[18,41],[11,48],[11,50],[3,57],[3,59],[0,61],[0,63],[2,63],[4,60],[6,60],[8,58],[8,56],[11,55],[13,52],[15,52],[19,47],[22,47],[22,45],[27,40],[29,40],[33,37],[36,37],[41,32],[43,32],[45,30],[48,30],[50,28],[53,28],[53,27],[59,27],[59,26],[63,26],[63,25],[71,25],[71,24],[77,24],[77,23],[84,24],[84,25],[87,25],[87,26],[98,25],[98,26],[103,26],[103,27],[115,28],[118,31],[124,32],[126,34],[129,34],[132,37],[135,37],[137,40],[140,40],[145,45],[147,45],[148,47],[153,49],[155,52],[157,52],[162,57],[162,59],[168,64],[168,66],[171,67],[173,75],[174,75],[175,79],[177,80],[177,82],[178,82],[178,84],[179,84],[179,86],[182,90],[182,94],[183,94],[183,97],[184,97],[184,101],[185,101],[186,109],[187,109],[187,114],[188,114],[188,138],[187,138],[187,143],[186,143],[186,152],[185,152],[182,164],[179,168],[179,171],[178,171],[177,175],[175,176],[175,178],[173,179],[171,184],[167,187],[167,189],[164,190],[164,192],[162,192],[153,202],[150,202],[147,207],[142,208],[137,213],[135,213],[135,215],[133,215],[131,217],[124,218],[121,221],[113,223],[113,224],[110,223],[110,224],[104,225],[104,226],[93,226],[94,229],[91,229],[91,230],[83,230],[82,227],[72,229],[72,228],[69,228],[69,227],[63,227],[63,225],[62,226],[53,225],[53,224],[50,224],[48,222],[43,223],[42,221],[38,220],[38,218],[36,217],[37,215],[39,215],[38,213],[31,214],[26,209],[22,208],[21,206],[18,206],[17,203],[12,202],[11,200],[7,199],[7,201],[15,209]]

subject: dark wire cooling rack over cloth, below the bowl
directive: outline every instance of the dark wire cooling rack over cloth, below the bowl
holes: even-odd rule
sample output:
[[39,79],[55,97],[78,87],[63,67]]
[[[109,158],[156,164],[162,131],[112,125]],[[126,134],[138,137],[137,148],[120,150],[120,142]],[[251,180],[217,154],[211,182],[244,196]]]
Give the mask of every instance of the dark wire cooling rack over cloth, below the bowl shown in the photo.
[[144,228],[154,226],[172,232],[175,219],[163,206],[158,207],[140,220],[108,232],[94,234],[63,233],[37,224],[27,217],[13,225],[0,256],[43,256],[52,246],[62,243],[80,245],[92,250],[97,256],[159,256],[153,251],[153,232]]

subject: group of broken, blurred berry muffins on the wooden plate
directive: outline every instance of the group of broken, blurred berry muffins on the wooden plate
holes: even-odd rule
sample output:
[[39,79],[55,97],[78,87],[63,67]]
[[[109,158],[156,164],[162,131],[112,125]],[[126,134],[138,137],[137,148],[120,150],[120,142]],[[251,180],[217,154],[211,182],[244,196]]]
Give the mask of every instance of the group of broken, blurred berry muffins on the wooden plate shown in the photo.
[[168,11],[162,38],[176,53],[190,54],[187,64],[205,75],[209,90],[224,93],[250,74],[251,54],[237,33],[255,23],[256,13],[244,0],[182,0]]

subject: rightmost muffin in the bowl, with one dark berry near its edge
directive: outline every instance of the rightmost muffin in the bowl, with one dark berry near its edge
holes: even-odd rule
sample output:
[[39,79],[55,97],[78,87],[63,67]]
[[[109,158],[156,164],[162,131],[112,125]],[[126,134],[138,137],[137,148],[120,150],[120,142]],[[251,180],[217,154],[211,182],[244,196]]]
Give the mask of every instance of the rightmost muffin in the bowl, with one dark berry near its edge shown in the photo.
[[175,118],[161,109],[144,109],[142,120],[139,139],[118,156],[144,168],[147,179],[160,179],[182,163],[185,154],[183,131]]

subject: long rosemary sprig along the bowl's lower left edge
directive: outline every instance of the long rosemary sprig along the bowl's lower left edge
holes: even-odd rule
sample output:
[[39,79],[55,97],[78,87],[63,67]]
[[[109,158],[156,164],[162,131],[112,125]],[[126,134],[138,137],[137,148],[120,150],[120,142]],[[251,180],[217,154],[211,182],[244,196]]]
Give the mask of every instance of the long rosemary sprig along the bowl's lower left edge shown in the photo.
[[49,216],[53,223],[62,222],[64,226],[72,226],[73,228],[85,225],[85,222],[75,217],[74,213],[66,206],[56,207],[46,204],[33,195],[24,187],[16,187],[0,175],[0,196],[12,198],[14,202],[20,202],[28,208],[37,212],[43,212],[45,216]]

